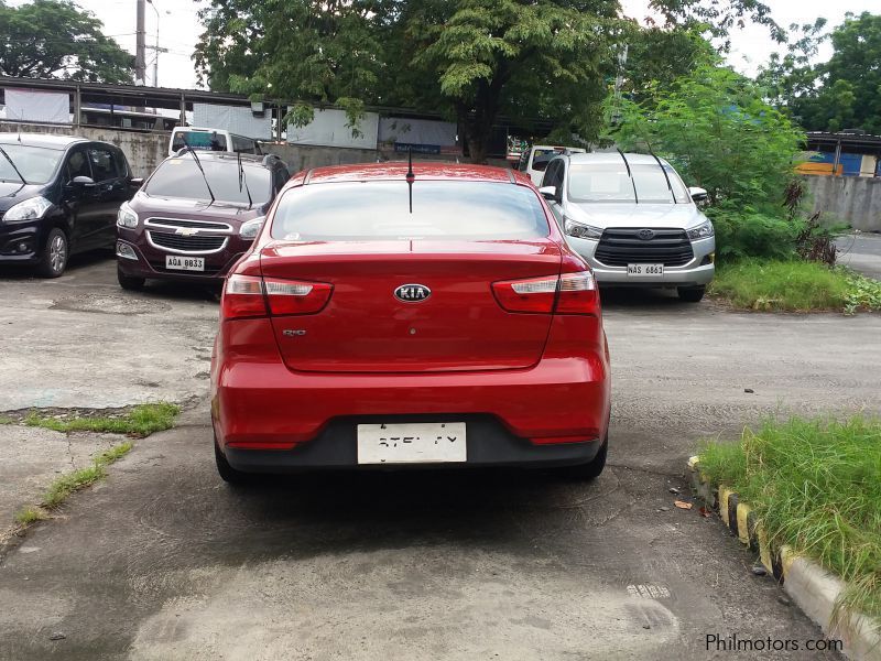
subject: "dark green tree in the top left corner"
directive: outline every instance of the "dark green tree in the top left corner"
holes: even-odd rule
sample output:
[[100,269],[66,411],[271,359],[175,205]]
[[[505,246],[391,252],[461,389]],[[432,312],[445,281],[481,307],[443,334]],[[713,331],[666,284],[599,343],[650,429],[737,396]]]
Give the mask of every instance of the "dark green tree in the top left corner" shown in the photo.
[[70,0],[0,1],[0,73],[24,78],[130,83],[134,57]]

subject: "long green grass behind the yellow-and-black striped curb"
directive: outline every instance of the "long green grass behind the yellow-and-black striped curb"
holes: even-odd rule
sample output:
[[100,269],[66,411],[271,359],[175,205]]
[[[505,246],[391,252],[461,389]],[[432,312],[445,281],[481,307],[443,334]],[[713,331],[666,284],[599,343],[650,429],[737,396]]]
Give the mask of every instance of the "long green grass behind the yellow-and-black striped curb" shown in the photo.
[[788,544],[848,582],[844,602],[881,621],[881,421],[766,421],[708,442],[700,467]]

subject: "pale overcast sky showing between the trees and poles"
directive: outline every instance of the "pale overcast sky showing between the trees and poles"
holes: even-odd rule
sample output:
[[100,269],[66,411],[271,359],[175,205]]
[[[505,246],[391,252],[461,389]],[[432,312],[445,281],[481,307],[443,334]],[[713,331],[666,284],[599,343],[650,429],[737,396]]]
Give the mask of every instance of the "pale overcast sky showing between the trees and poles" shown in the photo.
[[[9,4],[23,4],[25,0],[13,0]],[[134,53],[135,0],[76,0],[83,8],[91,11],[105,24],[105,34],[113,36],[127,51]],[[845,12],[861,13],[881,11],[881,0],[764,0],[771,14],[781,25],[790,23],[813,23],[817,17],[828,20],[827,26],[841,23]],[[160,46],[168,53],[160,55],[159,83],[162,87],[195,88],[196,72],[192,59],[193,50],[202,33],[196,12],[206,2],[194,0],[153,0],[160,12]],[[624,13],[642,21],[651,12],[649,0],[621,0]],[[156,39],[156,13],[146,6],[146,42],[154,44]],[[782,51],[775,44],[768,29],[748,24],[731,34],[732,51],[729,63],[739,72],[754,75],[758,67],[768,61],[774,51]],[[819,61],[829,58],[831,47],[828,42],[820,47]],[[148,51],[148,85],[153,84],[153,53]]]

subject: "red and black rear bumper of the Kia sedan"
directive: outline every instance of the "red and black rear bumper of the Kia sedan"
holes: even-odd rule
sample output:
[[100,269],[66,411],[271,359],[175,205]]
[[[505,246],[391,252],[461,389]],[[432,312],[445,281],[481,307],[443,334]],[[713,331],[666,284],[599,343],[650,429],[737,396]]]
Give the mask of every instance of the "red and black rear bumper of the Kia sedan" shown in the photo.
[[363,422],[465,421],[468,465],[481,466],[584,463],[606,437],[605,347],[522,370],[323,373],[284,367],[267,319],[226,322],[220,334],[211,418],[220,449],[241,470],[356,467]]

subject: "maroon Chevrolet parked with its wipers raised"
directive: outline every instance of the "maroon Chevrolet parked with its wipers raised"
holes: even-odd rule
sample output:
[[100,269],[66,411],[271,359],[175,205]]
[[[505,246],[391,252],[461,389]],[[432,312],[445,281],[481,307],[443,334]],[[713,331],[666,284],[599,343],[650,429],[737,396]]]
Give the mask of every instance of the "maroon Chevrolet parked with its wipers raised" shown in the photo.
[[137,290],[148,279],[219,282],[251,247],[289,178],[275,155],[182,150],[165,159],[119,209],[119,284]]

